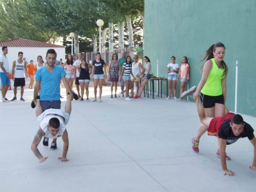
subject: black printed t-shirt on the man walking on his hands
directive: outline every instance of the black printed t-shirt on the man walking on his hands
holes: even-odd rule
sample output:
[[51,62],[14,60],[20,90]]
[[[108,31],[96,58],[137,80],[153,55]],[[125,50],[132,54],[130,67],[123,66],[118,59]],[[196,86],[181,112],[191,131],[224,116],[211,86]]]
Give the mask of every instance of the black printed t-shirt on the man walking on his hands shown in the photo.
[[227,140],[227,145],[230,145],[232,143],[235,143],[239,138],[244,138],[248,137],[249,140],[252,140],[254,135],[253,135],[253,129],[250,124],[244,122],[244,132],[242,132],[240,135],[236,136],[232,132],[232,129],[229,125],[231,122],[231,119],[224,121],[223,124],[220,127],[220,131],[218,133],[218,136],[221,139]]

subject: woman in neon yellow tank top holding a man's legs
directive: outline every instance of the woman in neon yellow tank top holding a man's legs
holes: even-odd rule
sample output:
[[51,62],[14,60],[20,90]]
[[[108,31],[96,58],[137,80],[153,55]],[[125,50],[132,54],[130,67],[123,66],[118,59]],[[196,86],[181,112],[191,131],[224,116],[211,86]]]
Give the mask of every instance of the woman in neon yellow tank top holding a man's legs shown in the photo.
[[[224,116],[225,101],[226,101],[226,79],[228,67],[224,62],[225,46],[222,43],[213,44],[204,56],[206,60],[203,65],[203,75],[200,83],[197,86],[196,92],[193,95],[195,100],[202,101],[204,105],[204,112],[208,117]],[[207,131],[205,125],[201,125],[196,137],[192,138],[192,148],[195,152],[199,152],[199,139]],[[218,139],[217,156],[220,156],[220,139]],[[230,158],[226,155],[226,159]]]

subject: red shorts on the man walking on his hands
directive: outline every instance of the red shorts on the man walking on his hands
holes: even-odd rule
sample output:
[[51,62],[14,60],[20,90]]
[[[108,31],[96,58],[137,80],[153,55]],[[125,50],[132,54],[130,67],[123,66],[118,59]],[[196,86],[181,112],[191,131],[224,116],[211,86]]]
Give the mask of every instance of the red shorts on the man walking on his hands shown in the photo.
[[212,136],[218,136],[218,132],[220,130],[221,125],[223,124],[224,121],[227,121],[229,119],[232,119],[234,116],[234,113],[227,113],[226,115],[222,117],[215,117],[211,120],[209,127],[207,129],[208,135]]

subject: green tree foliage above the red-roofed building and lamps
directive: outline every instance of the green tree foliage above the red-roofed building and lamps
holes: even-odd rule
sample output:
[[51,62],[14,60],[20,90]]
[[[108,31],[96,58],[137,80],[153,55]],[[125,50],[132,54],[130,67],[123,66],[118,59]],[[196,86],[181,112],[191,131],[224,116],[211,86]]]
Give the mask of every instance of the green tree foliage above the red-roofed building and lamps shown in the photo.
[[[98,35],[98,19],[104,20],[102,28],[108,28],[108,22],[124,22],[125,15],[135,19],[138,11],[144,11],[144,0],[0,0],[0,4],[4,13],[0,40],[21,37],[46,42],[77,32],[82,50],[92,48],[88,38]],[[69,42],[63,43],[68,48]]]

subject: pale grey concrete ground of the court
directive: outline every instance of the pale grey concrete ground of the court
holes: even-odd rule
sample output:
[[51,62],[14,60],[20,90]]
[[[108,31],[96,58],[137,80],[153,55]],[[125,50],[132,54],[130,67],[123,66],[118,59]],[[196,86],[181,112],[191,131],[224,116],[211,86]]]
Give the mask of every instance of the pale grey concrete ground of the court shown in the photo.
[[[227,147],[232,159],[228,169],[235,176],[224,176],[215,137],[204,134],[198,154],[191,148],[200,125],[195,103],[144,96],[110,99],[109,90],[103,87],[102,103],[72,101],[68,162],[57,160],[62,155],[61,139],[55,151],[41,141],[40,152],[49,156],[44,163],[39,164],[30,150],[38,130],[35,109],[30,107],[33,90],[25,89],[25,102],[0,102],[0,191],[255,190],[256,172],[248,169],[253,146],[247,138]],[[92,100],[93,88],[89,91]],[[7,98],[12,97],[13,91],[8,91]],[[256,127],[256,118],[243,117]]]

